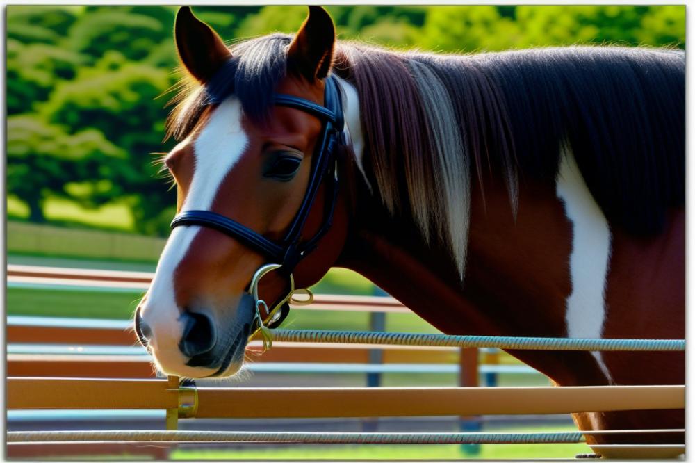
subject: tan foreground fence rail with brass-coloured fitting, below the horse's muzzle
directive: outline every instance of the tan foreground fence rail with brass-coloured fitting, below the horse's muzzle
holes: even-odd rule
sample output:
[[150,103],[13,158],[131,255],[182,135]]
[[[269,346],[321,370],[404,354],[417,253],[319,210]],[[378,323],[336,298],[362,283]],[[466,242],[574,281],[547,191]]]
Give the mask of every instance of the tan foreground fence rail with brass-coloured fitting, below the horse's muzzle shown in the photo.
[[[7,409],[185,409],[190,418],[564,414],[685,408],[685,386],[185,388],[172,380],[17,378]],[[181,405],[185,403],[186,405]]]

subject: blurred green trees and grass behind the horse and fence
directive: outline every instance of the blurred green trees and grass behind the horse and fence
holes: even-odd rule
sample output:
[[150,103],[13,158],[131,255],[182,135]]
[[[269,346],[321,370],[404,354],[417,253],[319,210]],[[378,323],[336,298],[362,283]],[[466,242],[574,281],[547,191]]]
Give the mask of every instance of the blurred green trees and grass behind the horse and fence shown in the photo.
[[[685,47],[684,6],[327,9],[336,22],[339,38],[386,47],[461,53],[570,44]],[[165,106],[173,96],[170,89],[181,76],[176,70],[172,40],[176,10],[174,6],[7,7],[8,266],[154,270],[176,202],[175,190],[158,176],[158,166],[153,163],[154,153],[167,152],[174,144],[172,140],[163,143],[163,136],[168,111]],[[306,16],[306,7],[199,6],[194,12],[225,40],[239,40],[274,31],[293,33]],[[341,269],[332,270],[315,291],[379,294],[379,289],[366,279]],[[15,317],[127,320],[141,295],[141,289],[66,286],[8,277],[6,307],[8,316]],[[13,320],[12,323],[28,323],[24,318]],[[382,314],[379,318],[367,312],[293,311],[286,325],[436,332],[414,314],[402,312]],[[17,349],[8,352],[24,352]],[[520,366],[505,355],[496,357],[494,362]],[[240,384],[359,386],[365,381],[376,381],[372,385],[453,386],[459,373],[400,371],[384,373],[375,380],[375,376],[370,379],[363,373],[343,372],[328,377],[306,372],[266,372],[245,380]],[[548,384],[538,373],[519,371],[486,376],[484,382],[489,386]],[[31,423],[38,423],[26,416],[28,421],[13,416],[19,421],[8,416],[10,428],[22,428],[19,422],[29,428]],[[51,422],[60,419],[58,415],[49,418]],[[72,415],[66,420],[76,418]],[[454,421],[432,421],[428,429],[450,430],[451,423]],[[477,425],[471,429],[480,429],[479,422]],[[484,428],[489,425],[486,423]],[[514,423],[505,425],[514,429]],[[523,425],[528,430],[528,423]],[[566,416],[553,423],[535,425],[534,430],[558,429],[558,425],[562,429],[573,428]],[[132,429],[133,421],[124,426]],[[322,429],[326,426],[322,425]],[[588,450],[585,446],[562,445],[530,446],[536,450],[525,450],[529,446],[512,447],[514,450],[484,446],[482,453],[480,448],[468,448],[467,455],[566,457]],[[178,451],[176,455],[181,458],[211,456],[193,450]],[[254,451],[236,455],[311,456],[297,448],[284,449],[284,453]],[[425,446],[423,450],[410,447],[403,454],[379,446],[341,451],[332,448],[320,456],[352,458],[362,455],[360,452],[372,458],[460,456],[457,446]],[[223,453],[221,457],[230,455]]]

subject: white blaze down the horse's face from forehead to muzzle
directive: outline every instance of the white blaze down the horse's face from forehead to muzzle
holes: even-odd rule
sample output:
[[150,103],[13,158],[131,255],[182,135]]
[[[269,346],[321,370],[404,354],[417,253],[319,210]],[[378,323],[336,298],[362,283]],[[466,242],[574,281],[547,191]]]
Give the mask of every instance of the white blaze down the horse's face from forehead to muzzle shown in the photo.
[[[248,138],[243,131],[241,118],[240,101],[236,97],[229,97],[215,108],[198,133],[193,141],[193,180],[181,211],[211,208],[224,177],[246,149]],[[190,138],[181,143],[190,143]],[[183,324],[179,323],[181,310],[175,300],[174,273],[199,229],[198,226],[187,225],[172,230],[140,312],[142,320],[152,329],[150,345],[160,370],[190,377],[208,375],[210,369],[186,366],[187,358],[179,350]]]

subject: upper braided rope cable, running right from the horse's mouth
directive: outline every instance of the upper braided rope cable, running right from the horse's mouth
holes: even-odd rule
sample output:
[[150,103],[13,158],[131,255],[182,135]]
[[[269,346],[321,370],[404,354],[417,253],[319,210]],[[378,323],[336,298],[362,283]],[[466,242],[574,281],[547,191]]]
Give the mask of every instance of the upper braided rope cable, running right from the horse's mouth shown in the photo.
[[573,339],[514,336],[452,336],[448,334],[384,333],[328,330],[270,330],[274,341],[391,344],[522,350],[651,351],[685,350],[685,339]]

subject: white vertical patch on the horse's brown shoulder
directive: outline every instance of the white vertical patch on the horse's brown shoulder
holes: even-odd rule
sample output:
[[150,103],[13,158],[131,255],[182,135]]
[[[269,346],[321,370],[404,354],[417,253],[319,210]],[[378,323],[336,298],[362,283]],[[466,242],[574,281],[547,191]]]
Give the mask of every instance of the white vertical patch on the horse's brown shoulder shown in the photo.
[[[600,339],[606,318],[605,286],[611,255],[608,222],[591,196],[577,161],[564,149],[557,175],[557,197],[564,202],[572,223],[569,259],[572,293],[567,298],[567,336]],[[612,382],[601,352],[591,352],[607,380]]]

